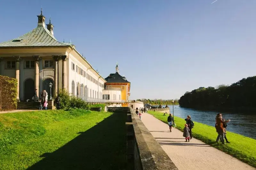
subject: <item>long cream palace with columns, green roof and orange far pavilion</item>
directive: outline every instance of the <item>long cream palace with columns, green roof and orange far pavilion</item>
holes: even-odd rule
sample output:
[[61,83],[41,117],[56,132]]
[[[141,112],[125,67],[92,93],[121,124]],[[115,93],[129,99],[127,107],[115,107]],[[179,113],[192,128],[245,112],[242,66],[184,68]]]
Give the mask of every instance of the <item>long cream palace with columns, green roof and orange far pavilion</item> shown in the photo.
[[[65,88],[87,102],[105,102],[102,99],[104,84],[113,78],[105,80],[73,44],[56,40],[51,19],[45,26],[42,11],[37,17],[35,29],[0,43],[0,75],[17,78],[17,99],[31,100],[35,89],[38,89],[37,96],[45,89],[50,98],[49,83],[52,83],[52,96],[57,95],[59,88]],[[112,87],[118,84],[121,94],[125,94],[124,97],[121,95],[121,99],[128,100],[130,83],[123,77],[121,82],[110,82],[115,84]],[[109,83],[107,87],[111,85]]]

